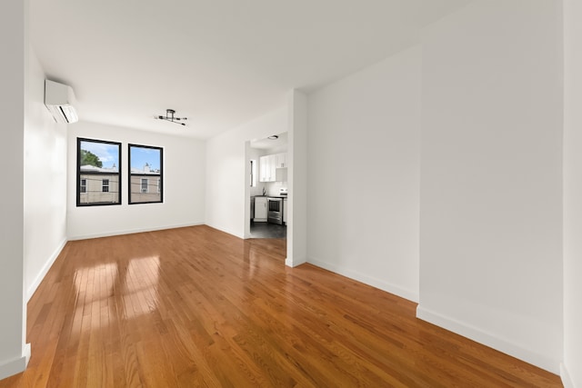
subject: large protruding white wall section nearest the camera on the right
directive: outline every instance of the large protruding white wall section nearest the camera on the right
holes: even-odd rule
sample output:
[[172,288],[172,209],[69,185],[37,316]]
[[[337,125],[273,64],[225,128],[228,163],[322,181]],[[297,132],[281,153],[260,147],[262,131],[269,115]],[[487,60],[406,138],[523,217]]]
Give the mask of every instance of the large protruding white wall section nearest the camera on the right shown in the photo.
[[418,316],[557,373],[560,5],[479,0],[426,30]]

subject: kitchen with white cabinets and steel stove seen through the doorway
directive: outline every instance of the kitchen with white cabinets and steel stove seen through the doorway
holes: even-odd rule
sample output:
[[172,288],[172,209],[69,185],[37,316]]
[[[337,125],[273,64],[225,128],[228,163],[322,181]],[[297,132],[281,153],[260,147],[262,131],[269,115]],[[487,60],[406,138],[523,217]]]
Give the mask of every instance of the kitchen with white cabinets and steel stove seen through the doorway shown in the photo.
[[286,155],[286,133],[252,140],[247,148],[251,238],[286,238]]

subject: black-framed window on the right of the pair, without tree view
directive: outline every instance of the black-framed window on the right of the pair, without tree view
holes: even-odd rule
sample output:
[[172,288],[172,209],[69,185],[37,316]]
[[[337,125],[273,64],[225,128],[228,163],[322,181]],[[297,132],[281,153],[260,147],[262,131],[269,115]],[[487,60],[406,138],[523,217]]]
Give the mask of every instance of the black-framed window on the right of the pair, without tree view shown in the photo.
[[164,149],[151,145],[129,144],[128,150],[129,204],[164,202]]

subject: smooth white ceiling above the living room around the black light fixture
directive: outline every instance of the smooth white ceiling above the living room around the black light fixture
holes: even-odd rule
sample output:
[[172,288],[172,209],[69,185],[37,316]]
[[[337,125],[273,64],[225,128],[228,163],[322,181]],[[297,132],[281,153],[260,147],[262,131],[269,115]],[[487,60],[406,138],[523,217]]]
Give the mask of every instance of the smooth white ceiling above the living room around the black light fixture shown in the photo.
[[[468,0],[30,0],[81,120],[207,138],[371,65]],[[186,126],[154,120],[166,108]]]

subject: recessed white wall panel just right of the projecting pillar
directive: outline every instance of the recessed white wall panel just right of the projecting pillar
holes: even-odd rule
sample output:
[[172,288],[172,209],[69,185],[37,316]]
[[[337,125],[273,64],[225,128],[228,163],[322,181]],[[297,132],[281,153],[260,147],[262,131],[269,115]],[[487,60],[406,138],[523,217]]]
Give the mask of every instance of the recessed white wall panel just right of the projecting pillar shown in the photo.
[[309,95],[310,263],[418,298],[416,46]]

